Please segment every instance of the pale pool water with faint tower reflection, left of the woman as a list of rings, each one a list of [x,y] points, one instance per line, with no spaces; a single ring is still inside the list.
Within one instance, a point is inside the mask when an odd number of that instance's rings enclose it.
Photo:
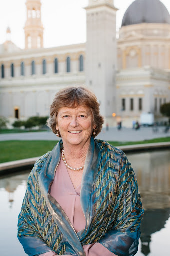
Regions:
[[[21,210],[29,172],[0,179],[0,255],[26,256],[17,239],[17,216]]]

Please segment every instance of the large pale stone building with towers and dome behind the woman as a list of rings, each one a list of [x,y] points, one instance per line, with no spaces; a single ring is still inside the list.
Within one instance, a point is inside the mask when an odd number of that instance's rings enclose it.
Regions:
[[[86,43],[43,48],[41,1],[26,0],[25,49],[0,45],[0,115],[13,121],[49,115],[55,93],[85,84],[112,125],[131,124],[142,112],[161,119],[170,101],[170,14],[159,0],[135,0],[116,39],[113,0],[89,0]],[[116,118],[112,113],[116,113]]]

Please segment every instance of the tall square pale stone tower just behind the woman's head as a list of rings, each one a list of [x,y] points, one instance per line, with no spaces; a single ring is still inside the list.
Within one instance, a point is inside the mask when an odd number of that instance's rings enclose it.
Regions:
[[[86,85],[97,96],[106,120],[115,112],[116,11],[113,0],[89,0]],[[107,120],[108,121],[108,120]]]

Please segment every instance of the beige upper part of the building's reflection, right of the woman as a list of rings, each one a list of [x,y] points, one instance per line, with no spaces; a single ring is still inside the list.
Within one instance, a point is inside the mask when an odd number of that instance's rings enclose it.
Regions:
[[[144,208],[170,207],[170,151],[129,154]]]

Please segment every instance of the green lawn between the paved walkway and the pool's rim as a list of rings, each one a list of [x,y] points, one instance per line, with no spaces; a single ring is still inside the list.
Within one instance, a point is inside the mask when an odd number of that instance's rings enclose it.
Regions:
[[[156,142],[170,142],[170,137],[137,141],[137,142],[109,141],[109,143],[114,146],[156,143]],[[57,143],[56,141],[45,141],[45,140],[43,141],[39,141],[39,140],[0,141],[0,163],[41,156],[46,152],[51,151],[56,143]]]

